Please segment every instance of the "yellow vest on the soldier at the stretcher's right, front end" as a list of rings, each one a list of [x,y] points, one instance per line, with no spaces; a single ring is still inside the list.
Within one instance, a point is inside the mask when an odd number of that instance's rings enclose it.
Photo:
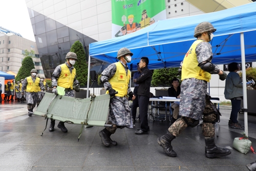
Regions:
[[[128,70],[127,76],[125,69],[121,62],[116,62],[116,73],[115,75],[109,80],[112,88],[118,92],[116,96],[124,97],[127,95],[128,84],[131,78],[131,72]],[[106,91],[109,93],[109,91]]]

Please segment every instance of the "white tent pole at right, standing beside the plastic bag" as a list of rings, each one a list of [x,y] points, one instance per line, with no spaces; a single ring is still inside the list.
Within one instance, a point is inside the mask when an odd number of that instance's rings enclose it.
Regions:
[[[242,78],[243,78],[243,96],[244,96],[244,132],[248,137],[248,119],[247,119],[247,92],[246,92],[246,71],[245,71],[245,49],[244,33],[240,33],[241,57],[242,57]]]

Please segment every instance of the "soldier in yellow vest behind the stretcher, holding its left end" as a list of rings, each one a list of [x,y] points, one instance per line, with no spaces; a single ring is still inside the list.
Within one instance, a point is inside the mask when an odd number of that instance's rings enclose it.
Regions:
[[[66,55],[66,62],[57,66],[52,74],[52,92],[58,94],[57,86],[65,88],[65,96],[74,97],[76,92],[80,91],[79,81],[76,79],[76,69],[74,64],[77,60],[76,53],[69,52]],[[51,120],[49,132],[54,131],[55,120]],[[57,127],[64,133],[68,130],[64,125],[64,122],[60,121]]]

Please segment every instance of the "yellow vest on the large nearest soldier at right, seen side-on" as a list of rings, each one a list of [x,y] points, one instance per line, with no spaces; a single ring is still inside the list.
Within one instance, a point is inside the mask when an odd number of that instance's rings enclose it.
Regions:
[[[198,39],[194,41],[194,43],[191,45],[191,47],[187,51],[183,59],[181,80],[186,78],[196,78],[196,79],[205,80],[207,82],[210,81],[211,74],[202,70],[200,67],[198,67],[199,63],[197,61],[196,48],[198,44],[200,44],[202,41],[204,40]]]

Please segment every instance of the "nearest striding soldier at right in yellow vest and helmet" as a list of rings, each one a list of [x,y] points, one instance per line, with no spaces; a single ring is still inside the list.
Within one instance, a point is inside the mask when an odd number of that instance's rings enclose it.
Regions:
[[[181,94],[180,94],[180,115],[168,129],[168,132],[157,139],[164,152],[170,157],[176,157],[171,142],[178,137],[187,127],[195,127],[202,119],[205,108],[205,97],[207,93],[207,82],[211,74],[219,74],[221,80],[225,80],[227,74],[211,63],[212,51],[209,41],[216,29],[208,22],[200,23],[195,28],[194,37],[197,40],[189,48],[181,62]],[[207,105],[208,108],[209,105]],[[227,148],[219,148],[214,141],[214,123],[216,113],[206,110],[208,115],[203,118],[203,135],[205,136],[205,156],[215,158],[227,156],[231,152]]]

